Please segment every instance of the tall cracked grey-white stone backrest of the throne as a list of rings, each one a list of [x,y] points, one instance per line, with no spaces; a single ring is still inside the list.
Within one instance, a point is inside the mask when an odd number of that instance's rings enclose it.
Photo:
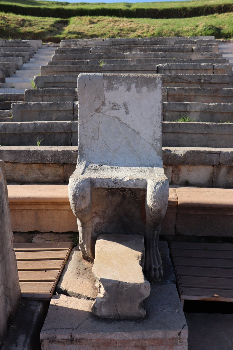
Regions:
[[[78,162],[162,167],[159,74],[78,76]]]

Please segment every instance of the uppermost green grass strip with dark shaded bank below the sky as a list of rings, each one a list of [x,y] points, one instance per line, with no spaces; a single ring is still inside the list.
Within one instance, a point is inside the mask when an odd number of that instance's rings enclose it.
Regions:
[[[233,0],[193,0],[145,3],[68,3],[0,0],[0,11],[53,18],[117,16],[127,18],[185,18],[233,12]]]

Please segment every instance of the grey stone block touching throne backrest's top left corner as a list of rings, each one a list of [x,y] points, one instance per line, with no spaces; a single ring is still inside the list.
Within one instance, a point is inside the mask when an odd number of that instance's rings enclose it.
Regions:
[[[77,75],[49,75],[36,76],[34,82],[37,87],[77,87]]]

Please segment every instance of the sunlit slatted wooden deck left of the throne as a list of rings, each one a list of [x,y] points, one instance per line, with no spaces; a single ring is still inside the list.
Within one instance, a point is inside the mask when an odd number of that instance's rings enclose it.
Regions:
[[[16,243],[13,247],[22,297],[50,300],[72,243]]]

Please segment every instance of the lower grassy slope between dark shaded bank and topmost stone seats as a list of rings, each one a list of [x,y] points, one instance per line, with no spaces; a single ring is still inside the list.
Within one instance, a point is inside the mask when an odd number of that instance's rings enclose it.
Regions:
[[[2,39],[62,39],[96,37],[156,37],[215,35],[233,38],[233,14],[214,14],[182,19],[83,16],[70,19],[0,13]]]

